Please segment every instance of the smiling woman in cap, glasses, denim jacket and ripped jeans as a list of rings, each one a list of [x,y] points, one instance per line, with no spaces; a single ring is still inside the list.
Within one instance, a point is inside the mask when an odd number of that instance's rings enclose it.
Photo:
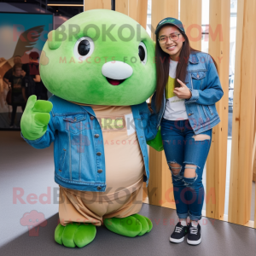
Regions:
[[[212,127],[220,121],[215,103],[224,92],[215,61],[189,46],[180,20],[161,20],[155,34],[157,87],[151,108],[158,116],[179,218],[170,241],[181,242],[188,234],[187,242],[196,245],[201,242],[202,173]]]

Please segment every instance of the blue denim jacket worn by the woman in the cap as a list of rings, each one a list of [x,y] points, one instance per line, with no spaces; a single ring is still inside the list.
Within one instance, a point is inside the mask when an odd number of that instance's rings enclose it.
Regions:
[[[186,79],[183,81],[192,93],[190,99],[185,100],[185,107],[195,134],[211,129],[220,122],[215,103],[224,95],[217,69],[212,58],[207,53],[194,52],[189,55]],[[152,96],[151,108],[156,113],[155,95]],[[162,96],[160,112],[157,113],[157,129],[166,108],[166,95]]]

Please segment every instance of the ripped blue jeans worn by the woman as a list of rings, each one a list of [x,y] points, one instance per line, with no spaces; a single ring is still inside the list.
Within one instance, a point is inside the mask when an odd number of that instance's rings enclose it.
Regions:
[[[160,126],[167,164],[172,172],[177,216],[200,220],[205,195],[202,173],[212,143],[212,129],[195,135],[189,119],[161,119]],[[189,172],[194,169],[195,177],[184,177],[186,168]]]

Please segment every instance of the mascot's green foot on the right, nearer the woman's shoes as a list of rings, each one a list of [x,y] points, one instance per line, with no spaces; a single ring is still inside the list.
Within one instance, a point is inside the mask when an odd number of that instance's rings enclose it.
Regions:
[[[153,228],[151,220],[139,214],[125,218],[105,218],[104,224],[108,230],[122,236],[143,236]]]

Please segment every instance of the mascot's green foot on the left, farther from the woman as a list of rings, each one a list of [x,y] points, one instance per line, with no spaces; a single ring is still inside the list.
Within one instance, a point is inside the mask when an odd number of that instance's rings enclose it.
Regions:
[[[96,226],[93,224],[58,224],[55,229],[55,241],[65,247],[85,247],[95,236]]]

